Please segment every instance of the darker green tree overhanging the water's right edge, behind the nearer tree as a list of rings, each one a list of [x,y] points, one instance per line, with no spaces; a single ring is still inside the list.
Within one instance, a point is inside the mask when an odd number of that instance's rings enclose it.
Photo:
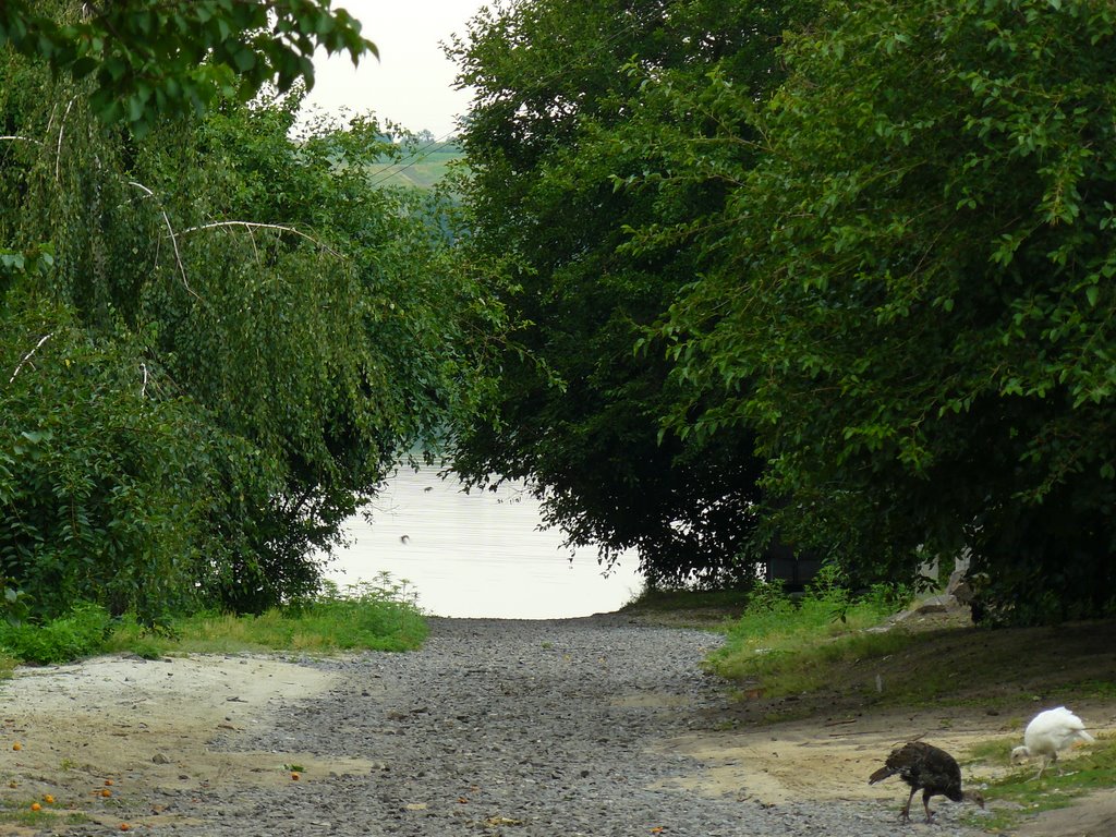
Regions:
[[[693,280],[699,250],[685,237],[631,249],[628,229],[700,219],[728,194],[718,177],[666,170],[656,146],[671,129],[713,126],[648,96],[647,80],[694,89],[720,71],[762,98],[781,30],[809,9],[537,0],[483,10],[451,49],[477,90],[460,136],[463,252],[511,277],[517,292],[502,301],[525,349],[507,353],[496,421],[459,437],[454,468],[473,484],[527,479],[569,543],[606,562],[636,548],[653,583],[750,577],[740,556],[762,462],[747,433],[664,433],[660,419],[683,395],[670,364],[636,350]],[[741,143],[712,153],[752,157]],[[637,184],[648,172],[663,174]]]

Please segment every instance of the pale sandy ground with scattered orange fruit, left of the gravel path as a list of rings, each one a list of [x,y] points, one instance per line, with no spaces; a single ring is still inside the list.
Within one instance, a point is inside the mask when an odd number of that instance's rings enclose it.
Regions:
[[[331,682],[316,668],[260,656],[113,656],[19,668],[0,683],[0,800],[26,808],[49,795],[54,808],[118,824],[116,799],[152,788],[289,782],[289,764],[319,776],[366,772],[356,761],[208,745],[275,721],[288,703]],[[145,824],[157,824],[158,814]],[[0,835],[28,833],[0,824]]]

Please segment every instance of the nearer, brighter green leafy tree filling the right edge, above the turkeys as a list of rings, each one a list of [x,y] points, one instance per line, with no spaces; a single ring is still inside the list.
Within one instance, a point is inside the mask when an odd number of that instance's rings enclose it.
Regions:
[[[998,619],[1110,612],[1116,10],[828,16],[662,329],[693,404],[731,394],[675,425],[759,432],[780,523],[862,578],[969,549]]]

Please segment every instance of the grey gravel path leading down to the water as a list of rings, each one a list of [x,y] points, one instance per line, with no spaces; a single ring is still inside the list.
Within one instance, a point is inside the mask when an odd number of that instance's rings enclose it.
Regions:
[[[618,615],[433,619],[420,652],[307,663],[339,671],[343,680],[287,706],[273,725],[223,744],[362,758],[374,763],[371,771],[250,792],[232,782],[201,793],[165,791],[154,801],[185,819],[155,830],[190,837],[979,834],[959,826],[959,806],[941,798],[937,825],[901,828],[898,782],[894,806],[763,806],[740,793],[706,797],[672,787],[702,766],[664,742],[708,728],[713,722],[699,710],[730,700],[723,683],[699,668],[718,642]]]

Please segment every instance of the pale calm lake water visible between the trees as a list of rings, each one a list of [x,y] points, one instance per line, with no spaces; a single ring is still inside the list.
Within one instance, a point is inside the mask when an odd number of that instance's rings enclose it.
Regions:
[[[373,503],[373,521],[353,518],[349,546],[326,578],[344,586],[386,571],[406,579],[419,606],[436,616],[543,619],[616,610],[643,587],[635,554],[605,577],[595,549],[561,548],[539,531],[538,502],[522,483],[464,493],[436,468],[410,468]]]

